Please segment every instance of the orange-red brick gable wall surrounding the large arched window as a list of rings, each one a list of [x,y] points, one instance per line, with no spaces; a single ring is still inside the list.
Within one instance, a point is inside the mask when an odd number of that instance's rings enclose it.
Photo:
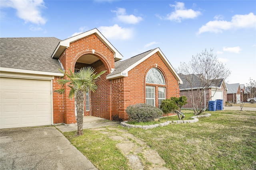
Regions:
[[[146,84],[146,74],[150,68],[156,67],[164,75],[165,85]],[[166,98],[171,96],[179,97],[178,81],[162,61],[160,56],[155,53],[144,62],[138,64],[128,72],[128,77],[112,80],[112,117],[116,120],[127,120],[128,115],[125,109],[134,104],[146,103],[145,89],[147,86],[155,86],[156,107],[158,106],[158,86],[166,88]],[[118,88],[120,86],[120,88]],[[123,104],[122,104],[123,102]],[[119,114],[118,114],[119,112]],[[119,117],[117,117],[117,115]],[[116,117],[114,117],[116,116]]]

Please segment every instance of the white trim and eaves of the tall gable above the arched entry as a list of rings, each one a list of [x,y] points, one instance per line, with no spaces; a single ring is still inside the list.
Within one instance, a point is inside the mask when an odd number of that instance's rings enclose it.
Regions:
[[[84,33],[75,35],[74,37],[70,37],[68,39],[64,39],[63,41],[60,41],[58,43],[58,46],[52,53],[52,58],[58,59],[62,52],[70,46],[70,43],[77,41],[78,39],[81,39],[83,37],[87,37],[89,35],[96,34],[103,43],[108,46],[108,48],[114,53],[115,61],[123,59],[123,56],[116,50],[116,48],[100,33],[100,31],[97,28],[91,29],[90,31],[86,31]]]

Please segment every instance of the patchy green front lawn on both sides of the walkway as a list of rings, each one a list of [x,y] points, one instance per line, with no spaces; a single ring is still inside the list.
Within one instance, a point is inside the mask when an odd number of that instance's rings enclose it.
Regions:
[[[185,110],[184,113],[191,111]],[[170,124],[154,129],[124,128],[156,150],[169,169],[256,169],[256,111],[206,111],[197,123]],[[188,118],[188,117],[187,117]],[[84,130],[64,133],[100,170],[129,169],[128,160],[109,138],[117,133]]]

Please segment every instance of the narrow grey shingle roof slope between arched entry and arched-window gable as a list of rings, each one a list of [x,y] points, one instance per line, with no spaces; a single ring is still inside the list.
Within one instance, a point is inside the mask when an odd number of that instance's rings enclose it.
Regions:
[[[138,62],[140,59],[143,59],[144,57],[146,57],[149,53],[151,53],[154,50],[155,49],[152,49],[150,51],[146,51],[146,52],[144,52],[142,54],[136,55],[136,56],[134,56],[134,57],[132,57],[130,59],[126,59],[124,61],[116,61],[115,62],[115,70],[114,70],[114,72],[108,74],[108,76],[123,72],[126,68],[128,68],[132,64]]]

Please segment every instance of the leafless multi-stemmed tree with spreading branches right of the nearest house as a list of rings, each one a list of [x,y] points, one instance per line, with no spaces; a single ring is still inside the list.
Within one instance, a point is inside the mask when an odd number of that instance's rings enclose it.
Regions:
[[[195,115],[203,113],[206,109],[203,107],[205,90],[216,87],[220,79],[226,79],[231,73],[225,64],[218,61],[217,56],[212,51],[213,49],[210,49],[210,51],[205,49],[196,56],[192,56],[188,63],[180,63],[177,69],[190,86],[187,90],[191,92],[190,102]],[[212,97],[214,94],[212,94]]]

